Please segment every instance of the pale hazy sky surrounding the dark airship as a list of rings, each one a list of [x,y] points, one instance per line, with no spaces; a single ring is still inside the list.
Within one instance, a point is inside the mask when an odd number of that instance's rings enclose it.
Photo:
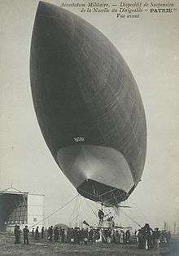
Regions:
[[[46,2],[60,6],[67,1]],[[29,54],[37,4],[37,0],[0,1],[0,190],[12,184],[20,191],[45,194],[48,215],[75,196],[76,190],[51,156],[33,109]],[[142,181],[124,203],[131,208],[120,210],[117,221],[134,225],[124,211],[141,224],[162,227],[166,220],[171,228],[174,221],[179,226],[178,13],[117,19],[112,13],[67,9],[111,40],[129,64],[142,95],[147,122],[146,165]],[[49,223],[72,222],[73,210],[81,214],[79,221],[87,218],[90,223],[93,218],[95,222],[91,208],[97,210],[99,205],[77,196],[49,218]]]

